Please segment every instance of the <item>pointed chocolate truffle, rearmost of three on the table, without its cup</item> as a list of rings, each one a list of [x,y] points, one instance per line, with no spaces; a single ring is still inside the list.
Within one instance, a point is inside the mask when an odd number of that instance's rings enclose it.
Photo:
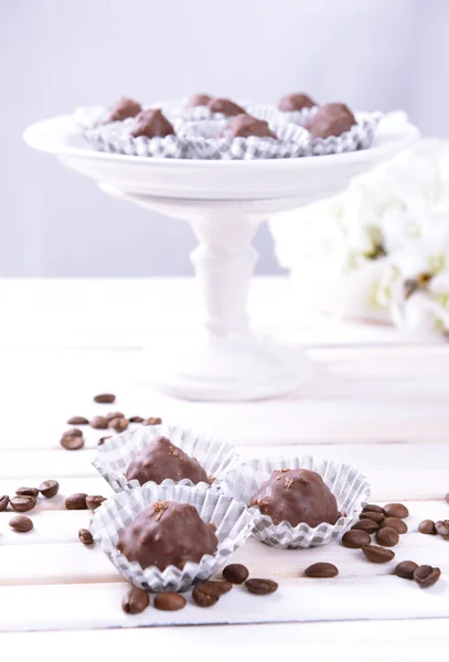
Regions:
[[[127,480],[136,479],[141,485],[152,480],[158,484],[165,478],[180,481],[189,478],[193,483],[209,482],[207,474],[195,458],[190,458],[167,437],[156,437],[131,460]]]

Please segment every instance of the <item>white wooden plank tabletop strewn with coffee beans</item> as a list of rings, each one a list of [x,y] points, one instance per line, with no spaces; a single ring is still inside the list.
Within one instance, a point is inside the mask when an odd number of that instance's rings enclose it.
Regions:
[[[47,478],[61,483],[56,499],[31,512],[35,527],[29,534],[11,531],[11,512],[0,513],[4,642],[35,653],[40,647],[76,647],[84,637],[94,647],[111,647],[117,659],[130,645],[151,642],[159,651],[175,641],[184,655],[215,647],[215,659],[250,644],[311,660],[339,659],[344,649],[345,660],[449,660],[449,543],[417,532],[423,519],[449,517],[449,348],[406,343],[388,327],[304,317],[285,279],[259,278],[250,296],[253,319],[308,345],[317,364],[313,381],[274,401],[192,403],[152,392],[141,352],[171,342],[179,316],[186,320],[182,332],[190,332],[197,307],[192,280],[3,280],[0,302],[0,493]],[[340,544],[276,551],[250,540],[235,560],[253,576],[277,579],[272,596],[234,588],[211,609],[189,604],[169,615],[153,608],[125,615],[122,578],[98,548],[77,540],[87,513],[64,510],[70,493],[109,493],[90,466],[104,433],[88,429],[79,451],[58,446],[71,415],[104,410],[92,401],[101,391],[117,393],[114,408],[129,415],[214,431],[244,458],[295,449],[354,465],[371,481],[373,501],[409,508],[409,533],[395,547],[395,560],[439,566],[441,580],[421,590],[392,575],[394,562],[373,565]],[[339,577],[304,578],[303,569],[317,560],[338,565]],[[199,622],[210,627],[135,629]]]

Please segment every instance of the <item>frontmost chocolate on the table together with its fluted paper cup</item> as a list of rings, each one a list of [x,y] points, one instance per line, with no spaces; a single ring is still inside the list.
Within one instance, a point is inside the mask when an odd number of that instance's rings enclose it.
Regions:
[[[204,483],[147,483],[105,501],[90,532],[126,579],[159,592],[188,590],[209,579],[244,544],[253,525],[254,515],[243,503]]]

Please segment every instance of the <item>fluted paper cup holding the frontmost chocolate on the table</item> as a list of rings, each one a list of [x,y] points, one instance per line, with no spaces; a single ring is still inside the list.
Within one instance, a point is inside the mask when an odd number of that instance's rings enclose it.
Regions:
[[[119,531],[154,501],[177,501],[194,505],[204,522],[213,522],[217,526],[216,553],[205,554],[200,563],[188,562],[182,570],[173,565],[164,570],[156,566],[142,569],[139,563],[129,562],[116,547]],[[216,573],[250,535],[253,523],[254,516],[245,504],[205,489],[204,483],[197,487],[147,483],[143,488],[120,492],[107,499],[95,511],[90,532],[120,575],[138,588],[183,591]]]

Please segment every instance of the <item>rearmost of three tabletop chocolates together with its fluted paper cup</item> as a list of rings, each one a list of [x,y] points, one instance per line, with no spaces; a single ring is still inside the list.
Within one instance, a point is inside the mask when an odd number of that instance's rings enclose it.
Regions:
[[[149,425],[107,439],[93,465],[120,492],[148,481],[214,487],[237,462],[234,447],[213,435]]]

